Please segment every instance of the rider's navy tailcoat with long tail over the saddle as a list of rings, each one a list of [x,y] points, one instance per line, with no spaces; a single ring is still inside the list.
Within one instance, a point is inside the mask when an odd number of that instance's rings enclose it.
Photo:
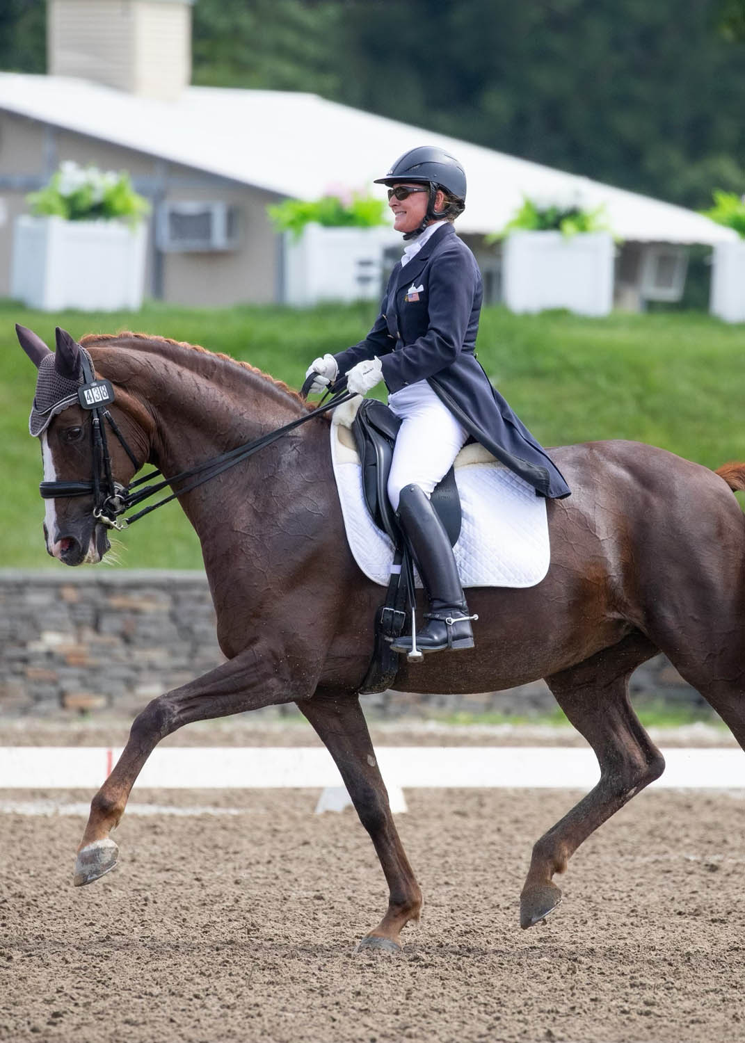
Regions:
[[[364,340],[335,355],[339,375],[375,356],[390,392],[426,380],[468,434],[540,495],[570,488],[474,355],[483,295],[474,254],[443,224],[388,280],[381,314]]]

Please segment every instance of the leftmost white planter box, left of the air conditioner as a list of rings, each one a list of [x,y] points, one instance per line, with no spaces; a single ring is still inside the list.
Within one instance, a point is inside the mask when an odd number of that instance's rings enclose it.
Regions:
[[[10,296],[46,312],[138,309],[145,282],[143,224],[16,219]]]

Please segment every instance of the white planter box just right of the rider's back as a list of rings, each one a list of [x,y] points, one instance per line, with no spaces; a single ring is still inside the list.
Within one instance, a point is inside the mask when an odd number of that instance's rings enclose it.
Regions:
[[[567,308],[607,315],[614,302],[615,244],[607,232],[512,232],[504,243],[504,302],[512,312]]]

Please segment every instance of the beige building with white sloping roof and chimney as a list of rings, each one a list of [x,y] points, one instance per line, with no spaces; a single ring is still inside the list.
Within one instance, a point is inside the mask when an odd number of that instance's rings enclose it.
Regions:
[[[687,244],[737,238],[680,207],[315,95],[189,87],[189,5],[181,0],[49,0],[49,13],[50,75],[0,73],[0,295],[8,292],[11,220],[65,160],[130,172],[153,204],[147,295],[174,302],[282,300],[282,237],[266,204],[340,187],[384,198],[374,178],[420,144],[446,148],[466,170],[456,227],[484,268],[490,299],[499,298],[499,251],[483,237],[524,196],[580,196],[605,208],[625,244],[617,297],[625,286],[630,305],[651,247],[674,257]],[[189,225],[207,204],[211,232],[190,249],[188,239],[176,241],[172,215]]]

